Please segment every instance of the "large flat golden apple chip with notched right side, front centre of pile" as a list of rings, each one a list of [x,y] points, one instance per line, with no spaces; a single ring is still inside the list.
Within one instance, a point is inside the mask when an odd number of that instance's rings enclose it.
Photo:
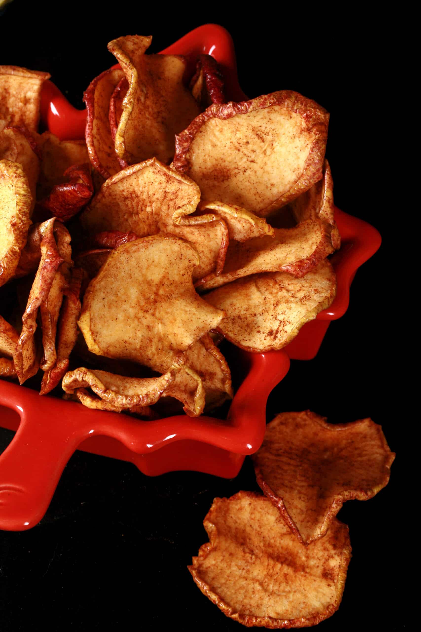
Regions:
[[[97,355],[133,360],[160,373],[222,320],[194,291],[198,253],[158,234],[125,243],[86,289],[79,327]]]

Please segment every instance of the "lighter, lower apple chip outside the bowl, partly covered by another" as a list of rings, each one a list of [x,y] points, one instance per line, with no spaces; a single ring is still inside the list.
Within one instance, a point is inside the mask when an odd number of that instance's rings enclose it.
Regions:
[[[189,571],[230,619],[263,628],[316,625],[338,609],[351,558],[348,527],[304,547],[264,496],[215,498],[203,521],[210,542]]]

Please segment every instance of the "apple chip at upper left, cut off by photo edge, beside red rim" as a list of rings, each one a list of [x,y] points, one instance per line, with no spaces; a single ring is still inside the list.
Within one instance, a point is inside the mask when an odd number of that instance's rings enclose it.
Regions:
[[[0,119],[6,125],[23,125],[37,131],[41,88],[50,76],[18,66],[0,66]]]

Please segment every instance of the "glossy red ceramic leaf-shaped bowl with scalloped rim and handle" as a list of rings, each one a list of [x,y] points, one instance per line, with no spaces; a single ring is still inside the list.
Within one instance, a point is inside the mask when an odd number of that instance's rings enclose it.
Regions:
[[[228,99],[242,100],[232,39],[208,24],[162,51],[192,59],[203,52],[222,66]],[[42,92],[42,122],[61,139],[83,138],[86,112],[72,107],[54,83]],[[266,401],[287,374],[290,358],[311,360],[331,320],[347,310],[357,268],[379,248],[381,238],[366,222],[336,209],[342,246],[332,262],[338,277],[336,299],[302,327],[282,351],[246,353],[235,349],[232,373],[246,368],[226,420],[177,415],[141,422],[126,415],[93,411],[27,387],[0,382],[0,425],[17,432],[0,457],[0,528],[25,530],[44,516],[64,466],[76,449],[131,461],[147,475],[194,470],[225,478],[237,475],[246,454],[261,446]]]

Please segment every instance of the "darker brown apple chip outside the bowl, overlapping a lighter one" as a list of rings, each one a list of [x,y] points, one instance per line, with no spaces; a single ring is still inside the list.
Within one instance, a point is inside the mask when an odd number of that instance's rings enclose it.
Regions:
[[[366,501],[387,485],[394,456],[371,419],[326,423],[305,410],[268,423],[252,460],[264,494],[309,544],[328,533],[343,502]]]

